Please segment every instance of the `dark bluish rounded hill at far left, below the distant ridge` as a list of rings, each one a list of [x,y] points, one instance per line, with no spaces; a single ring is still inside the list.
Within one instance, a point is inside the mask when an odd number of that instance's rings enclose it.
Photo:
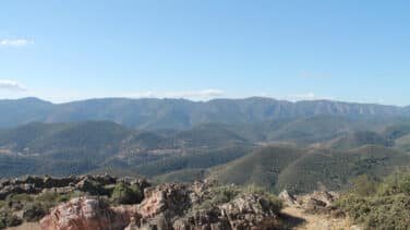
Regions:
[[[0,135],[0,147],[23,156],[98,160],[117,154],[130,131],[113,122],[29,123]],[[98,157],[99,155],[99,157]]]

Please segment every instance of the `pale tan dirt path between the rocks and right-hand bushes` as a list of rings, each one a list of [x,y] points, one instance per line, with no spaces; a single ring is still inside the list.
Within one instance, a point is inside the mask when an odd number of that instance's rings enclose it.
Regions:
[[[287,207],[282,214],[288,216],[293,225],[289,229],[293,230],[360,230],[355,226],[351,226],[348,219],[335,219],[324,215],[310,215],[303,213],[298,207]]]

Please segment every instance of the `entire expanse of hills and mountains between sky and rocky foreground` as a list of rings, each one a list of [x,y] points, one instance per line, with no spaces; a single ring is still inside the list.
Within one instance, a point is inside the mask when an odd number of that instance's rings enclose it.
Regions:
[[[1,100],[0,177],[109,172],[305,193],[410,165],[406,107],[268,98]]]

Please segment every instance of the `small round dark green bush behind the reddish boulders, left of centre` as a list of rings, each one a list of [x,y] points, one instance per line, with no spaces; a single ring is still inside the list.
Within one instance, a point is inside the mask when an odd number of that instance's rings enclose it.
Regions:
[[[112,191],[111,199],[116,204],[137,204],[143,201],[143,192],[136,184],[119,183]]]

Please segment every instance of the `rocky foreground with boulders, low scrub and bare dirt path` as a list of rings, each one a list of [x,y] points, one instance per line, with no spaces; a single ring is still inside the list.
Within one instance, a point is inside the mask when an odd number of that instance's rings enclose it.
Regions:
[[[150,185],[110,175],[26,177],[0,183],[0,226],[44,230],[350,229],[337,194],[279,198],[215,181]],[[287,206],[282,210],[284,204]],[[33,222],[38,222],[34,225]]]

